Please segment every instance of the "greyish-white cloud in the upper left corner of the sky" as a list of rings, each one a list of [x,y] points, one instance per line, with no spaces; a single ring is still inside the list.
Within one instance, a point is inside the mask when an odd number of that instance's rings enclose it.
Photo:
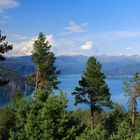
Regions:
[[[0,0],[0,12],[19,6],[16,0]]]

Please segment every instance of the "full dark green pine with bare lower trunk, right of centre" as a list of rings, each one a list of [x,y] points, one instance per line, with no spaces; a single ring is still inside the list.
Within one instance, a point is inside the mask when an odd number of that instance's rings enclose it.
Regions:
[[[86,71],[79,81],[80,87],[76,87],[72,93],[75,95],[75,104],[85,103],[89,105],[91,111],[91,129],[96,127],[94,112],[101,110],[102,106],[109,105],[110,103],[110,92],[101,68],[101,64],[97,62],[96,58],[90,57],[87,62]]]

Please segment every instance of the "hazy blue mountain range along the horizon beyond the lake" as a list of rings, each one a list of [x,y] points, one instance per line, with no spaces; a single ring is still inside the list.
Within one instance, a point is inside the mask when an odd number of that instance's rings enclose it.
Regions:
[[[102,71],[106,76],[129,76],[140,72],[140,56],[96,56],[102,64]],[[81,74],[86,67],[88,56],[57,56],[56,67],[61,74]],[[22,75],[28,75],[35,71],[35,65],[30,56],[9,57],[0,62],[2,68]]]

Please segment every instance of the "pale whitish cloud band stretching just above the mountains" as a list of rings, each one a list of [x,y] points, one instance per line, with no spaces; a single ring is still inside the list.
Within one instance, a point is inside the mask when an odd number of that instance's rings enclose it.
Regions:
[[[140,54],[139,31],[110,31],[72,36],[47,35],[46,37],[56,55]],[[37,37],[27,39],[25,36],[13,34],[9,38],[13,42],[20,40],[21,43],[13,43],[14,49],[8,55],[22,56],[31,54],[33,42]]]

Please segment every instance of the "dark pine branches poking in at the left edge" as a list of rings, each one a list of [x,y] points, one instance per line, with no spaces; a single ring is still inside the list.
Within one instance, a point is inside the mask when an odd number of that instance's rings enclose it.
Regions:
[[[12,50],[12,45],[9,45],[8,42],[5,41],[6,36],[2,36],[0,31],[0,61],[4,61],[5,57],[3,56],[4,53]],[[7,79],[4,79],[2,74],[0,74],[0,86],[3,86],[8,83]]]

